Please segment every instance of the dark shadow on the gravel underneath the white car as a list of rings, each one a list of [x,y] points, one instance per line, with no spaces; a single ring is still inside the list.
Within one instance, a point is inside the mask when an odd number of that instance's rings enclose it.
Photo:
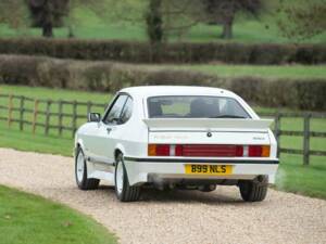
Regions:
[[[108,191],[114,195],[114,187],[100,185],[99,190]],[[115,196],[114,196],[115,197]],[[246,205],[240,193],[228,191],[221,193],[218,188],[213,192],[200,192],[198,190],[167,190],[160,191],[153,188],[141,190],[140,203],[202,203],[202,204],[241,204]]]

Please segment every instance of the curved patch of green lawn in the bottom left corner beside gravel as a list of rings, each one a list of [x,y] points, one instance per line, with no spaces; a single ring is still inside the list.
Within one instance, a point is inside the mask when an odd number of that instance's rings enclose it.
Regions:
[[[91,218],[42,197],[0,185],[0,243],[116,243]]]

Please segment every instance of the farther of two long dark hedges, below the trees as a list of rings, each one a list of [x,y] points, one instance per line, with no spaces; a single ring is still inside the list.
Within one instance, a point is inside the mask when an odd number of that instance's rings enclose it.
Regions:
[[[147,42],[79,39],[0,39],[0,53],[127,63],[284,64],[326,63],[326,44]]]

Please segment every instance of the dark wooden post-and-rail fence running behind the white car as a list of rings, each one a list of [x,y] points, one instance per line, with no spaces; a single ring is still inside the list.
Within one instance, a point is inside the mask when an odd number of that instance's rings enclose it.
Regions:
[[[32,126],[32,132],[35,133],[36,129],[41,127],[45,134],[49,134],[49,131],[57,130],[59,136],[62,136],[63,131],[70,131],[74,136],[78,128],[77,119],[86,121],[87,114],[93,108],[103,111],[106,104],[78,101],[64,101],[64,100],[45,100],[45,99],[32,99],[23,95],[0,94],[0,101],[7,100],[5,105],[0,102],[0,121],[7,121],[8,127],[11,128],[13,123],[18,124],[20,130],[26,130],[25,125]],[[29,107],[26,106],[26,102],[29,102]],[[32,105],[30,105],[32,103]],[[40,110],[40,106],[45,110]],[[57,112],[51,112],[51,108],[57,105]],[[72,113],[65,112],[65,107],[71,106]],[[78,107],[85,107],[84,113],[78,113]],[[16,116],[13,113],[16,112]],[[28,116],[29,115],[29,116]],[[42,115],[43,119],[39,119]],[[326,113],[276,113],[276,114],[260,114],[262,117],[274,118],[274,133],[278,141],[278,156],[280,153],[303,155],[303,164],[309,165],[310,156],[326,156],[326,151],[315,151],[310,149],[311,138],[326,138],[326,132],[311,131],[311,119],[326,119]],[[29,119],[26,119],[29,117]],[[55,117],[58,124],[53,125],[50,119]],[[70,125],[64,123],[64,118],[71,118]],[[301,131],[298,130],[283,130],[281,120],[284,118],[303,118],[303,127]],[[42,121],[40,121],[42,120]],[[326,120],[325,120],[326,123]],[[290,137],[303,137],[302,150],[281,147],[280,136]],[[325,144],[326,147],[326,144]]]

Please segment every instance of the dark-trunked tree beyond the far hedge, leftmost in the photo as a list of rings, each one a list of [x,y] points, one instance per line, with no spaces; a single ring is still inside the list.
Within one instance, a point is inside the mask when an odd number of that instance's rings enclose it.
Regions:
[[[53,37],[53,27],[62,25],[68,14],[70,0],[27,0],[34,26],[42,28],[43,37]]]

